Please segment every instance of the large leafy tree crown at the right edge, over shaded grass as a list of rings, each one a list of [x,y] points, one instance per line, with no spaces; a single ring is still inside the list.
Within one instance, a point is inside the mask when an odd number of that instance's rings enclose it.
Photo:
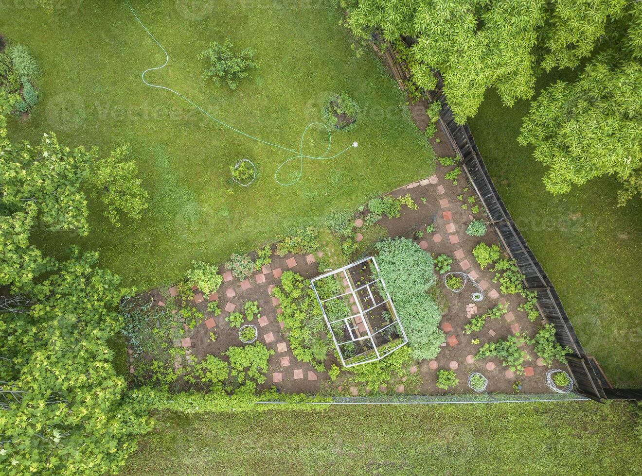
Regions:
[[[542,92],[518,140],[535,146],[535,160],[548,166],[544,184],[551,193],[615,175],[623,184],[618,204],[625,205],[642,194],[642,3],[631,4],[614,30],[614,47],[576,81]]]

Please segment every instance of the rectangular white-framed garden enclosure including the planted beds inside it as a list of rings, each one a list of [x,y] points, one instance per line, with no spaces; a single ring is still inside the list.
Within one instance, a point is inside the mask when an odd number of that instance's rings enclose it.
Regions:
[[[378,361],[408,343],[374,257],[317,276],[311,285],[343,367]]]

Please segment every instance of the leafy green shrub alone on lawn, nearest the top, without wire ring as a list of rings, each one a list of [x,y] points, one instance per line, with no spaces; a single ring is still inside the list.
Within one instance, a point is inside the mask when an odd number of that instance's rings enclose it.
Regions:
[[[254,50],[245,48],[241,53],[232,51],[232,42],[229,38],[221,46],[217,42],[211,42],[209,47],[198,55],[198,59],[206,59],[209,65],[203,70],[204,78],[211,78],[214,84],[220,85],[225,81],[230,89],[236,89],[239,81],[250,76],[250,70],[257,69],[254,58]]]

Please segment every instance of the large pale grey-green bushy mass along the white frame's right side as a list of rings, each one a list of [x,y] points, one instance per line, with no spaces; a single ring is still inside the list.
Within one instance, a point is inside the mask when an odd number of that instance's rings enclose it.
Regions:
[[[435,284],[433,260],[414,242],[400,237],[376,244],[377,264],[386,283],[415,360],[434,359],[444,333],[441,312],[428,294]]]

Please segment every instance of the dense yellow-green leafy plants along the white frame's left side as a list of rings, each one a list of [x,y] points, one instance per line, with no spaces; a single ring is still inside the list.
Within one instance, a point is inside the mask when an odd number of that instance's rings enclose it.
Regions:
[[[320,296],[329,298],[337,290],[338,283],[326,279],[315,282],[315,286]],[[309,362],[317,371],[325,371],[323,362],[330,349],[329,337],[309,282],[297,273],[284,271],[281,287],[275,287],[272,294],[281,302],[283,312],[277,319],[288,330],[288,341],[294,357],[301,362]],[[327,311],[333,312],[333,309],[328,307]]]

